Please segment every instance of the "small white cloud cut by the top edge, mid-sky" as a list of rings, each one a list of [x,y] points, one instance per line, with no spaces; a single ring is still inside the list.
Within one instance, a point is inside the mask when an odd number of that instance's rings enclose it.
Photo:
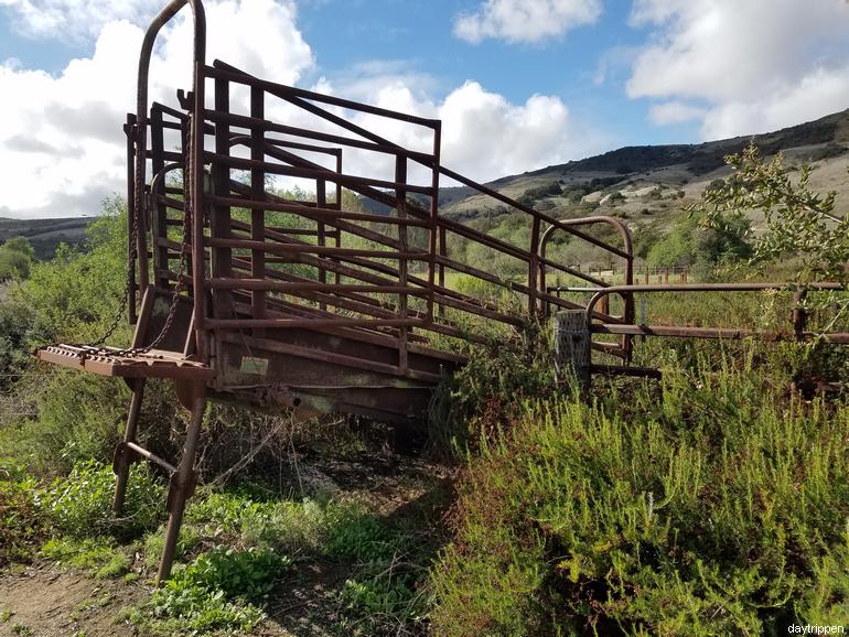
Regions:
[[[487,37],[540,42],[594,23],[601,11],[601,0],[486,0],[455,18],[454,35],[475,44]]]

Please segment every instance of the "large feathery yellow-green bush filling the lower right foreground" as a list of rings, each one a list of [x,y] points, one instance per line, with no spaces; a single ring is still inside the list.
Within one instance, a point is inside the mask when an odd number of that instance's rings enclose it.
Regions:
[[[849,617],[849,407],[748,370],[528,406],[460,485],[439,635],[786,634]]]

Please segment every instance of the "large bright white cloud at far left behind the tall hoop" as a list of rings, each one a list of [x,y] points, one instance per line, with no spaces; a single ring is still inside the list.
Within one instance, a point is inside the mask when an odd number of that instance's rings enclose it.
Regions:
[[[9,0],[0,0],[9,1]],[[109,4],[109,3],[101,3]],[[290,2],[207,2],[208,61],[223,57],[260,76],[293,84],[313,64]],[[191,19],[184,9],[160,34],[151,99],[173,104],[190,87]],[[126,190],[121,125],[135,111],[142,30],[107,23],[90,57],[57,75],[0,65],[0,216],[96,214],[100,201]],[[272,43],[269,46],[268,43]]]

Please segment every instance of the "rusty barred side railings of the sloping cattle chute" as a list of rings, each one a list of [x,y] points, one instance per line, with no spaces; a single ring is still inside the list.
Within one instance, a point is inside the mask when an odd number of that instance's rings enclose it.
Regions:
[[[427,333],[482,342],[493,325],[518,326],[548,307],[582,307],[547,291],[549,272],[606,285],[548,257],[555,231],[623,259],[631,282],[631,237],[617,219],[558,219],[447,169],[440,162],[439,120],[273,84],[218,61],[205,65],[200,2],[192,3],[192,91],[179,94],[181,108],[153,104],[148,111],[152,42],[184,3],[172,2],[160,14],[142,50],[138,112],[128,118],[127,127],[135,175],[130,213],[139,230],[130,259],[135,251],[133,277],[142,292],[151,284],[163,290],[178,281],[185,285],[194,303],[201,359],[208,357],[209,337],[216,333],[345,328],[390,339],[398,349],[397,369],[405,374],[410,344],[424,344]],[[234,98],[237,91],[249,96],[247,102]],[[278,121],[275,114],[290,117]],[[303,120],[311,126],[292,123]],[[427,148],[402,145],[374,132],[381,128],[402,128],[407,139],[426,140]],[[169,136],[179,137],[175,150],[166,142]],[[380,174],[345,172],[343,158],[348,166],[379,166],[381,171],[374,172]],[[148,165],[153,175],[150,185],[144,179]],[[179,170],[182,181],[166,183]],[[238,175],[246,179],[235,179]],[[280,196],[268,187],[269,179],[307,183],[314,198]],[[520,214],[528,242],[496,238],[441,214],[441,180],[472,188],[487,199],[490,209],[495,205]],[[370,209],[343,205],[345,191]],[[146,193],[152,205],[144,205]],[[191,236],[183,240],[191,257],[190,271],[181,274],[176,228],[185,220],[186,197],[193,216]],[[622,246],[584,231],[583,226],[597,224],[615,227]],[[456,246],[462,248],[459,252]],[[499,272],[492,260],[509,267]],[[456,284],[459,278],[466,284]],[[488,293],[476,292],[480,288]],[[516,303],[516,298],[524,302]],[[625,307],[622,317],[595,315],[605,322],[628,322],[633,303],[627,296]],[[626,356],[628,339],[623,336],[614,353]]]

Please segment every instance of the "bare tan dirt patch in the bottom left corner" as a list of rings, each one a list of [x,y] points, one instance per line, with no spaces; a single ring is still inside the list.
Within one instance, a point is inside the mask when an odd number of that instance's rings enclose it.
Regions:
[[[132,637],[119,611],[140,598],[143,586],[94,580],[49,565],[0,576],[0,636]],[[7,617],[7,614],[11,616]]]

